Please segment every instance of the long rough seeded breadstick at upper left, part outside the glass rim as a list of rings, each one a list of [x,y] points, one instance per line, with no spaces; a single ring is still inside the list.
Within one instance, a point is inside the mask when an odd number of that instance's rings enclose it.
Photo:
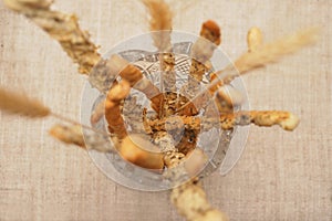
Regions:
[[[96,46],[86,31],[82,31],[74,14],[50,9],[51,0],[4,0],[4,4],[24,14],[55,39],[66,54],[79,64],[79,72],[89,74],[101,60]]]

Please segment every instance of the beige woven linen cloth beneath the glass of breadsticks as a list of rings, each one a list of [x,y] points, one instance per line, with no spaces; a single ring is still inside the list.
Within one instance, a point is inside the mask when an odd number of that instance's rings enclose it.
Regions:
[[[246,33],[260,27],[266,40],[320,25],[319,43],[269,65],[243,81],[255,109],[288,109],[301,117],[293,133],[251,127],[246,151],[226,177],[205,180],[212,204],[231,220],[332,220],[332,2],[172,1],[177,30],[198,33],[216,20],[222,49],[235,59]],[[106,52],[147,31],[144,9],[134,0],[58,0]],[[59,44],[0,4],[0,83],[40,97],[55,112],[79,119],[84,76]],[[117,186],[85,151],[48,136],[56,120],[0,114],[0,220],[181,220],[168,192],[139,192]]]

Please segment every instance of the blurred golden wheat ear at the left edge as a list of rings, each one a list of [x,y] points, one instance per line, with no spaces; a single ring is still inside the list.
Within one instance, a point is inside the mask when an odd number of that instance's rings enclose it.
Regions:
[[[49,107],[24,94],[0,88],[0,109],[9,114],[28,117],[45,117],[51,114]]]

